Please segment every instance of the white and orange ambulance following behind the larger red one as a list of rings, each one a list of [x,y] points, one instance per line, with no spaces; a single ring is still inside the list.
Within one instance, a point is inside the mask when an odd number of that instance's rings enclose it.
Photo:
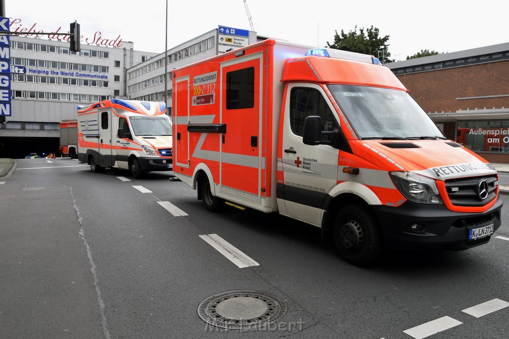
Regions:
[[[78,160],[92,172],[106,167],[144,172],[171,171],[172,121],[166,104],[110,99],[78,106]]]

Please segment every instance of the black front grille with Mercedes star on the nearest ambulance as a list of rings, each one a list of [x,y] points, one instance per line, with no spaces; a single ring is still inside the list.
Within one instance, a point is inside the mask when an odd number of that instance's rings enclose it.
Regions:
[[[479,196],[479,184],[483,180],[488,184],[488,195],[484,199]],[[445,180],[447,195],[455,206],[484,206],[495,198],[497,186],[496,175]]]

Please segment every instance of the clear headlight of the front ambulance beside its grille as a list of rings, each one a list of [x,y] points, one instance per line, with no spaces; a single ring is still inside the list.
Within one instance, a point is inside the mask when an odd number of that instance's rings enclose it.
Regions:
[[[412,172],[390,172],[400,193],[419,204],[443,204],[435,180]]]

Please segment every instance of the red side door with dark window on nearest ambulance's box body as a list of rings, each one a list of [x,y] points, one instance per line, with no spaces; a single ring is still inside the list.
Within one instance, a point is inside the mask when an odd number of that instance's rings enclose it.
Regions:
[[[261,204],[262,61],[254,53],[221,64],[220,192]]]

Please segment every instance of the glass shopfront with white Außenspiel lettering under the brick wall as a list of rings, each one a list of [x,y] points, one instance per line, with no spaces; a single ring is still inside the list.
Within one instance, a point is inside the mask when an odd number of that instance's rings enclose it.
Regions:
[[[458,121],[456,141],[473,151],[509,154],[509,120]]]

